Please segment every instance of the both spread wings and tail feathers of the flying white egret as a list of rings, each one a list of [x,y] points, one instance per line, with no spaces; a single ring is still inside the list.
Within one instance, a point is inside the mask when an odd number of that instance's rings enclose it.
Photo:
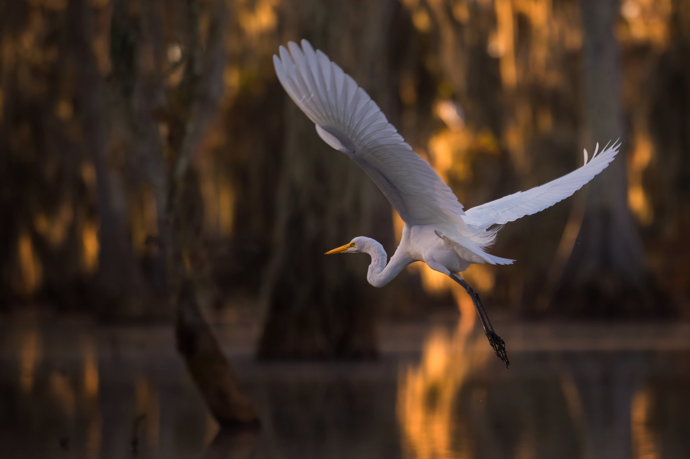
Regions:
[[[406,226],[433,225],[446,236],[444,241],[469,249],[471,254],[464,258],[472,263],[512,263],[484,251],[495,238],[489,227],[562,201],[607,167],[618,152],[617,143],[560,179],[464,211],[451,188],[412,151],[351,76],[306,40],[302,48],[294,42],[288,48],[289,52],[281,46],[280,57],[273,56],[275,72],[293,101],[315,123],[319,136],[364,169]]]

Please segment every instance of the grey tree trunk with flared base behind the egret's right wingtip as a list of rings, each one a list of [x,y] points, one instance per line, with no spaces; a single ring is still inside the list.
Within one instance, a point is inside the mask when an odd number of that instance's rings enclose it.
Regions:
[[[617,0],[581,0],[583,143],[625,139]],[[600,145],[603,147],[604,145]],[[586,213],[555,305],[588,316],[649,314],[653,298],[642,238],[628,207],[625,150],[589,185]]]

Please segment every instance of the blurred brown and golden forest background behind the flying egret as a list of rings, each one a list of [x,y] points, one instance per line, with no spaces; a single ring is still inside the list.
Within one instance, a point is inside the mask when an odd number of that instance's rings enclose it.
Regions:
[[[368,257],[322,255],[358,235],[392,254],[402,222],[279,85],[271,56],[306,38],[466,208],[620,136],[602,181],[506,225],[514,265],[471,267],[494,314],[687,318],[689,31],[683,0],[3,1],[0,309],[248,305],[260,356],[313,357],[453,305],[421,263],[374,289]]]

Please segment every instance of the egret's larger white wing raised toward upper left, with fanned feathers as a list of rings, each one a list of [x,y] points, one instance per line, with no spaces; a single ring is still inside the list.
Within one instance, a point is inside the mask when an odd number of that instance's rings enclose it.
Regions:
[[[319,136],[366,171],[408,225],[464,227],[462,204],[371,98],[330,59],[302,40],[280,47],[273,65],[280,83],[316,124]]]

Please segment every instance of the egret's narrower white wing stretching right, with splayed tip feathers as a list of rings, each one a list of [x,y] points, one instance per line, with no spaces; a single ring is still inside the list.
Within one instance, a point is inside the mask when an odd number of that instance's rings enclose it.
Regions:
[[[502,225],[551,207],[580,190],[596,174],[602,172],[613,161],[615,154],[618,153],[618,148],[620,148],[620,143],[616,142],[605,148],[600,154],[596,154],[595,151],[595,155],[589,163],[560,177],[560,179],[534,187],[526,192],[509,194],[490,203],[472,207],[466,211],[466,215],[463,217],[464,221],[471,227],[486,230],[491,225]]]

